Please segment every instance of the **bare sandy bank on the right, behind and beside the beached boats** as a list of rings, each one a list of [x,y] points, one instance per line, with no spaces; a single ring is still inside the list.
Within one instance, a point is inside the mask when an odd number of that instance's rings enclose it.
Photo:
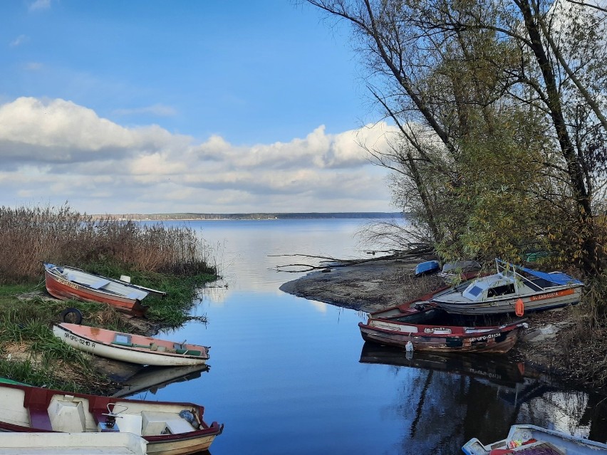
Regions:
[[[308,273],[284,283],[280,289],[294,296],[369,313],[413,300],[445,285],[437,276],[415,277],[417,263],[386,260],[334,267]],[[568,368],[564,360],[564,333],[574,324],[574,308],[530,313],[525,317],[529,328],[509,357],[552,375],[576,379],[579,376],[576,367]]]

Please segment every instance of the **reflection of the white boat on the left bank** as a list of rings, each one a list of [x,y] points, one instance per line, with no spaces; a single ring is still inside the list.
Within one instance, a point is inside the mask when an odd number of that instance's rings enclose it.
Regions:
[[[173,382],[183,382],[200,377],[208,371],[208,365],[190,365],[187,367],[142,367],[135,375],[123,382],[123,387],[113,397],[128,397],[135,393],[150,391],[155,393]]]

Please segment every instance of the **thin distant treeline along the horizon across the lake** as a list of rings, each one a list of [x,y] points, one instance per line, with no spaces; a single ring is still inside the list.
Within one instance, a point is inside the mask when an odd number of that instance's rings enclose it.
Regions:
[[[138,219],[162,221],[168,219],[329,219],[329,218],[401,218],[400,212],[388,211],[344,211],[344,212],[302,212],[302,213],[251,213],[251,214],[195,214],[195,213],[175,213],[175,214],[113,214],[113,215],[93,215],[93,217],[103,218],[112,216],[116,219]]]

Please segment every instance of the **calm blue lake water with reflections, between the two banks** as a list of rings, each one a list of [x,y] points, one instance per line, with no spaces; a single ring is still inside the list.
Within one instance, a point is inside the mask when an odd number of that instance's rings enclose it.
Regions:
[[[162,335],[211,346],[210,369],[132,396],[204,405],[205,420],[225,424],[213,455],[453,455],[472,437],[504,438],[516,423],[607,441],[603,395],[505,357],[408,358],[365,345],[363,313],[279,291],[298,275],[276,266],[301,258],[275,255],[363,256],[354,237],[363,223],[184,222],[217,249],[227,287],[207,289],[195,306],[206,325]]]

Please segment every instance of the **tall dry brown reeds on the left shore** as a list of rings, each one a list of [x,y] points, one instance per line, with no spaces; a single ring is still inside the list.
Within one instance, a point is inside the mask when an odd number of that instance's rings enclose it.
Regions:
[[[130,271],[217,273],[212,249],[187,227],[95,219],[63,206],[0,208],[0,284],[36,281],[41,262]]]

